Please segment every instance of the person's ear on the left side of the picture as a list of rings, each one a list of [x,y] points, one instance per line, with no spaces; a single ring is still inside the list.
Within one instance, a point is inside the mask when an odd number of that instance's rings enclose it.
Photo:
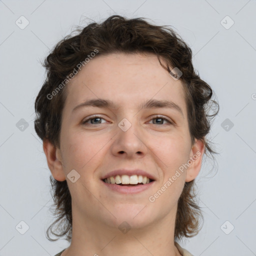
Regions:
[[[43,139],[42,144],[51,175],[58,181],[64,181],[66,177],[63,170],[60,149],[55,147],[48,139]]]

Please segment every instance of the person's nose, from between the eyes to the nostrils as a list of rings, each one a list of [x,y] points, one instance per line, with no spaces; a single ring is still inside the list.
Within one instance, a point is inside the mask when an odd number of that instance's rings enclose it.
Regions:
[[[142,130],[135,121],[129,122],[131,125],[127,122],[126,119],[119,123],[116,135],[112,138],[111,152],[113,155],[122,155],[125,158],[143,157],[148,150],[144,141],[145,136],[143,136]],[[127,125],[129,126],[127,130],[122,128],[125,125],[126,128]]]

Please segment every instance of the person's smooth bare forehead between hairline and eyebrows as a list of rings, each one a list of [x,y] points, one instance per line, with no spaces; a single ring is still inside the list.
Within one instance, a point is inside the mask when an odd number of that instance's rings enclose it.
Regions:
[[[161,62],[164,61],[161,59]],[[149,99],[171,100],[185,114],[183,84],[174,80],[156,55],[111,53],[92,58],[66,85],[68,109],[91,98],[114,101],[120,107],[141,106]]]

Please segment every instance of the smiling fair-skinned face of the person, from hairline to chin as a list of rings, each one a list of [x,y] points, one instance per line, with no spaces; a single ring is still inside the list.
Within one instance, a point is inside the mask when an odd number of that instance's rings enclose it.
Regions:
[[[199,172],[196,152],[203,151],[198,141],[191,145],[180,79],[174,80],[153,54],[114,53],[90,60],[66,86],[59,164],[51,172],[66,179],[73,216],[108,227],[174,218],[184,182]],[[82,105],[89,100],[97,101]],[[123,183],[128,178],[139,184],[112,184],[119,182],[118,174]],[[149,183],[143,184],[144,176]]]

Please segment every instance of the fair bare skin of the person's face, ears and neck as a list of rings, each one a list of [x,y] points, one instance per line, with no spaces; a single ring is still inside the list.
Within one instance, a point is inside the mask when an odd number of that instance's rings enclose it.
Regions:
[[[174,80],[153,54],[112,53],[94,57],[66,86],[60,148],[43,141],[52,176],[66,179],[72,198],[72,240],[61,256],[181,255],[174,245],[177,201],[184,182],[198,175],[204,152],[201,140],[190,141],[181,80]],[[118,108],[90,106],[72,112],[92,98],[112,100]],[[151,98],[172,100],[183,115],[173,108],[138,111]],[[94,114],[103,119],[82,124]],[[172,124],[157,122],[156,114]],[[127,131],[117,125],[123,118],[131,123]],[[196,152],[200,156],[150,202],[148,197]],[[118,168],[140,168],[156,180],[140,193],[120,194],[100,181]],[[67,178],[72,169],[80,175],[74,183]],[[123,221],[131,227],[127,233],[118,229]]]

